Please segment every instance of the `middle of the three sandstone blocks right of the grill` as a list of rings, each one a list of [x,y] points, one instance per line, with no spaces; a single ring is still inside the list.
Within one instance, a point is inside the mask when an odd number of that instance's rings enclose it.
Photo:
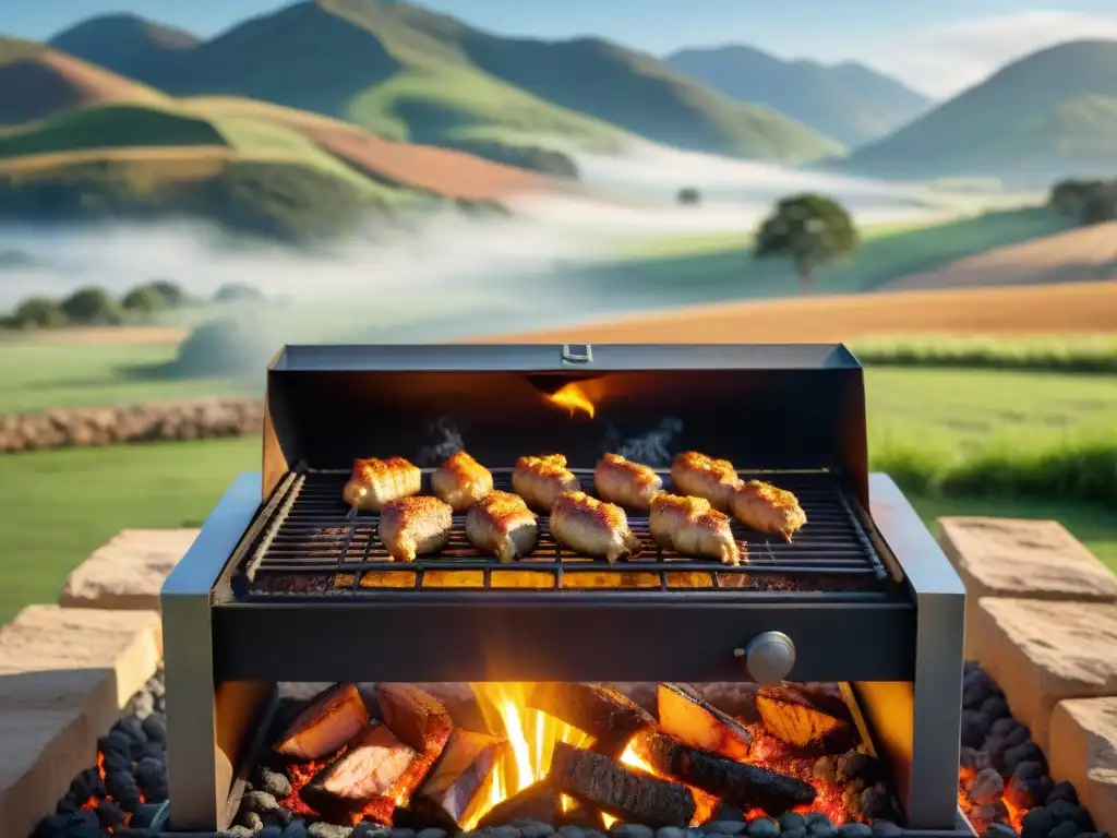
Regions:
[[[986,597],[975,626],[975,655],[1043,750],[1058,702],[1117,695],[1115,604]]]

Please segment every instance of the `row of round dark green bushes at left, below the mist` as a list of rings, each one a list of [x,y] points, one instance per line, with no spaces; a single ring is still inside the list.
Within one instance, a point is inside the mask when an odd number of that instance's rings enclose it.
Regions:
[[[221,286],[209,302],[231,303],[262,298],[264,295],[252,286],[238,283]],[[9,328],[118,326],[156,312],[185,308],[206,302],[189,295],[182,286],[169,279],[142,283],[120,298],[104,288],[86,286],[58,299],[42,294],[27,297],[2,320],[2,324]]]

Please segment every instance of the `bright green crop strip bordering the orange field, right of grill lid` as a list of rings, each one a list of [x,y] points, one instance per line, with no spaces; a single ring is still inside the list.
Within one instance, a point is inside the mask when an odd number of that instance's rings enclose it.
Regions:
[[[856,341],[850,349],[875,366],[949,366],[1117,373],[1117,334],[1027,339],[919,335]]]

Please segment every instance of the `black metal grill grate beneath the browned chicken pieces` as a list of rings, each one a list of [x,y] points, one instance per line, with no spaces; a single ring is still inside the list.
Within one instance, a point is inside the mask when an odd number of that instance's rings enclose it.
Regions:
[[[573,469],[584,488],[591,469]],[[512,469],[493,469],[496,488],[510,491]],[[235,589],[242,596],[352,593],[390,591],[514,590],[532,591],[880,591],[887,571],[855,513],[855,502],[829,473],[748,474],[799,497],[808,523],[791,543],[765,536],[734,522],[747,555],[741,566],[681,556],[659,547],[648,518],[629,514],[632,532],[643,543],[636,560],[609,565],[561,546],[540,517],[535,552],[500,564],[472,546],[465,535],[465,514],[455,515],[450,542],[439,554],[413,563],[392,562],[376,536],[378,516],[357,513],[342,501],[347,472],[308,472],[295,476],[275,506]],[[670,478],[663,473],[665,488]],[[423,475],[429,492],[429,470]],[[239,581],[239,585],[237,582]]]

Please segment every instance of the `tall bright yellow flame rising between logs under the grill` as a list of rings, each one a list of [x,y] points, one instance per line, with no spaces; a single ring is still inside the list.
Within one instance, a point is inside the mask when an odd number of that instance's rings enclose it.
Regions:
[[[529,684],[486,683],[474,684],[472,687],[481,699],[488,726],[494,731],[504,731],[508,740],[508,752],[493,771],[488,800],[478,807],[464,826],[464,831],[467,832],[475,829],[478,821],[497,803],[547,775],[556,742],[581,747],[590,741],[590,736],[576,727],[528,707]],[[574,801],[565,794],[560,803],[563,811],[570,811],[574,807]]]

